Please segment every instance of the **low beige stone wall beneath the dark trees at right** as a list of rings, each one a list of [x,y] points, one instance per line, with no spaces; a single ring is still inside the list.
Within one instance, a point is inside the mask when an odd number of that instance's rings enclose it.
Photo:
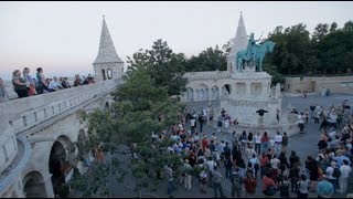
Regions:
[[[307,76],[286,77],[285,92],[295,93],[301,91],[319,92],[323,88],[329,88],[331,93],[353,93],[353,76],[332,76],[332,77],[315,77]]]

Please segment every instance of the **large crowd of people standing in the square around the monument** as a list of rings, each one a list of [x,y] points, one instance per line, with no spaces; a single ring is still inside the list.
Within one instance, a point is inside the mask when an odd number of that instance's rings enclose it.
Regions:
[[[207,136],[203,127],[213,122],[212,109],[191,111],[173,126],[170,136],[173,145],[167,150],[181,156],[183,171],[175,176],[176,168],[173,165],[164,167],[168,195],[173,193],[178,184],[184,184],[184,188],[190,190],[193,188],[191,181],[197,180],[201,193],[213,188],[214,197],[225,197],[227,193],[222,187],[223,178],[231,187],[232,198],[254,197],[255,193],[274,196],[276,192],[280,197],[298,198],[308,198],[310,192],[319,198],[330,198],[335,192],[346,193],[352,171],[353,133],[353,115],[346,106],[315,106],[310,107],[311,113],[308,108],[300,114],[296,111],[302,116],[303,123],[327,122],[320,125],[322,134],[317,157],[307,156],[306,159],[301,159],[293,149],[289,155],[289,137],[286,132],[277,132],[274,137],[269,137],[267,132],[254,134],[244,130],[239,136],[234,132],[232,140],[217,138],[218,133]],[[347,121],[344,124],[335,119],[345,116]],[[222,117],[228,117],[224,109],[218,118]],[[199,130],[196,126],[200,127]],[[342,129],[340,136],[335,134],[338,129]],[[153,134],[152,138],[158,139],[159,136]],[[258,192],[256,188],[260,185],[261,192]]]

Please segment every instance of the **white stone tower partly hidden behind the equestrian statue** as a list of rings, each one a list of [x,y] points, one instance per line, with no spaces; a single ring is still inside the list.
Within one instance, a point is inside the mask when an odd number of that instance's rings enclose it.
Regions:
[[[235,72],[236,70],[236,53],[247,46],[247,34],[244,25],[243,14],[240,12],[240,18],[238,22],[238,28],[236,30],[235,38],[233,39],[233,46],[227,56],[227,71]]]

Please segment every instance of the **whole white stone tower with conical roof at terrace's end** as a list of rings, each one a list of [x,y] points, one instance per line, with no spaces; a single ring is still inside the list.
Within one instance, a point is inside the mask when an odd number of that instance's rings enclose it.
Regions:
[[[93,63],[96,81],[119,78],[124,74],[124,62],[118,56],[103,15],[98,55]]]

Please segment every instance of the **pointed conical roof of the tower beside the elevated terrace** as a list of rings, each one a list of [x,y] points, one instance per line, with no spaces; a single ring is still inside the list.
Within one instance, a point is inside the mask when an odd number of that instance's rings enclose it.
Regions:
[[[110,33],[106,23],[106,20],[103,17],[103,27],[100,33],[99,51],[98,55],[93,64],[99,63],[117,63],[122,62],[118,56]]]

